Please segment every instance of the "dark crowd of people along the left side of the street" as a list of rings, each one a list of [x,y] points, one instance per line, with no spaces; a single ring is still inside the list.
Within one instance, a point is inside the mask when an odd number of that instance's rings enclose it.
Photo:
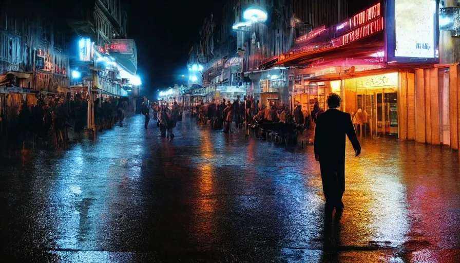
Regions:
[[[95,122],[99,130],[122,126],[127,101],[106,98],[94,101]],[[87,126],[88,100],[83,93],[39,95],[35,105],[23,101],[6,106],[0,114],[0,148],[11,156],[31,147],[62,147],[69,142],[69,128],[75,139],[82,138]]]

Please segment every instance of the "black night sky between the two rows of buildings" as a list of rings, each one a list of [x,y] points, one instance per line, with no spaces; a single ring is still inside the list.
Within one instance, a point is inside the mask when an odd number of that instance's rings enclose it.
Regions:
[[[204,18],[220,17],[223,4],[219,0],[126,2],[128,37],[136,40],[145,95],[153,96],[186,74],[188,51],[199,41]]]

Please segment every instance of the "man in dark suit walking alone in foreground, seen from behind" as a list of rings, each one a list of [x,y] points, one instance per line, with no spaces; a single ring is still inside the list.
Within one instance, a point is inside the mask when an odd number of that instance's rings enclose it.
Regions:
[[[329,96],[329,110],[318,115],[315,130],[315,158],[319,161],[326,207],[332,209],[343,209],[345,135],[355,149],[355,156],[361,154],[350,114],[338,110],[339,106],[340,96],[335,93]]]

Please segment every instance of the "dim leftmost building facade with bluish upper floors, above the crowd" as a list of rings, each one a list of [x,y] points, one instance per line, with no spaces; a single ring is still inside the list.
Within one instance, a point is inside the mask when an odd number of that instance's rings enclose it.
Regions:
[[[24,6],[25,5],[25,6]],[[0,105],[36,104],[37,92],[69,86],[67,28],[36,2],[0,10]],[[1,112],[0,112],[1,113]]]

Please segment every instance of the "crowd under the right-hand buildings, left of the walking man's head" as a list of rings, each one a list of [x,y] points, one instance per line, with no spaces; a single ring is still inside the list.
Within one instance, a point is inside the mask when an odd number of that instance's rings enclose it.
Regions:
[[[263,107],[252,95],[244,96],[242,100],[237,97],[233,102],[212,100],[194,108],[198,122],[209,124],[215,130],[234,133],[237,129],[243,129],[246,136],[251,133],[267,139],[270,136],[286,144],[297,143],[297,137],[303,136],[305,130],[310,132],[307,136],[313,142],[314,123],[321,112],[318,101],[314,102],[312,111],[302,110],[297,103],[291,114],[285,105],[276,107],[269,103]]]

